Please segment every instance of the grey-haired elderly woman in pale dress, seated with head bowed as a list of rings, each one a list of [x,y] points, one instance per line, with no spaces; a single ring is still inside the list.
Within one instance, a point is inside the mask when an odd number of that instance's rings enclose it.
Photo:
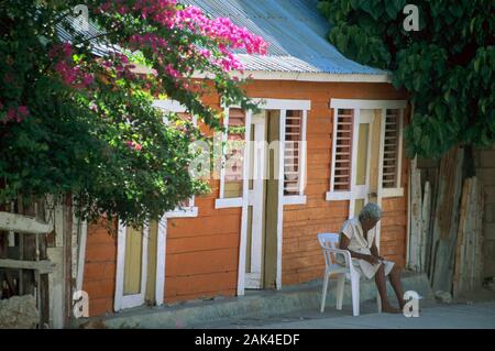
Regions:
[[[394,262],[386,261],[378,255],[375,243],[375,233],[372,230],[382,218],[382,209],[378,205],[369,202],[361,210],[359,218],[351,218],[342,224],[340,230],[340,249],[351,252],[352,263],[361,275],[369,279],[375,277],[382,299],[382,311],[398,314],[403,310],[404,292],[400,283],[400,268]],[[339,255],[339,263],[343,263],[343,256]],[[400,309],[388,303],[386,279],[388,276],[394,292],[397,295]]]

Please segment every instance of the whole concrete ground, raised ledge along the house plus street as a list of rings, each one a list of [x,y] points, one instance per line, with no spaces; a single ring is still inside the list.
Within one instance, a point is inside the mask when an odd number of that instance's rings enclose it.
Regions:
[[[155,307],[136,307],[106,317],[75,320],[73,328],[124,329],[305,329],[305,328],[495,328],[495,292],[480,289],[451,304],[435,300],[424,273],[404,273],[405,290],[417,292],[420,316],[377,314],[376,286],[361,282],[361,316],[352,316],[351,288],[344,288],[343,309],[336,310],[331,282],[326,310],[319,312],[321,282],[276,290],[246,290],[244,296],[218,297]],[[395,294],[388,286],[388,296]]]

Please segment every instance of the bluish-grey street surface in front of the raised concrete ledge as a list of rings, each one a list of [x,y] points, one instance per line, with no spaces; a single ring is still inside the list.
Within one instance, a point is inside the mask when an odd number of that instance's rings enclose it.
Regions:
[[[268,318],[243,318],[217,321],[193,328],[207,329],[495,329],[495,293],[480,289],[451,304],[420,300],[419,317],[377,314],[376,303],[361,304],[361,316],[353,317],[352,308],[341,311],[326,308],[323,314],[299,310]]]

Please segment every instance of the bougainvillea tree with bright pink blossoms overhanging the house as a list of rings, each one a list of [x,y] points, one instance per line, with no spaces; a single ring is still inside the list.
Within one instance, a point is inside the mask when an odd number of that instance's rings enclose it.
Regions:
[[[187,171],[198,130],[152,102],[201,97],[253,108],[232,54],[266,43],[176,0],[0,1],[0,202],[72,194],[80,215],[143,223],[207,189]],[[195,74],[206,79],[195,80]]]

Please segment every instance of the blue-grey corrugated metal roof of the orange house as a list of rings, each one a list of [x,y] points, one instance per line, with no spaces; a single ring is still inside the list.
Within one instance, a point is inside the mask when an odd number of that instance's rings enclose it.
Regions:
[[[227,17],[270,43],[266,56],[238,53],[246,70],[365,74],[386,72],[345,58],[327,40],[318,0],[180,0],[213,18]]]

